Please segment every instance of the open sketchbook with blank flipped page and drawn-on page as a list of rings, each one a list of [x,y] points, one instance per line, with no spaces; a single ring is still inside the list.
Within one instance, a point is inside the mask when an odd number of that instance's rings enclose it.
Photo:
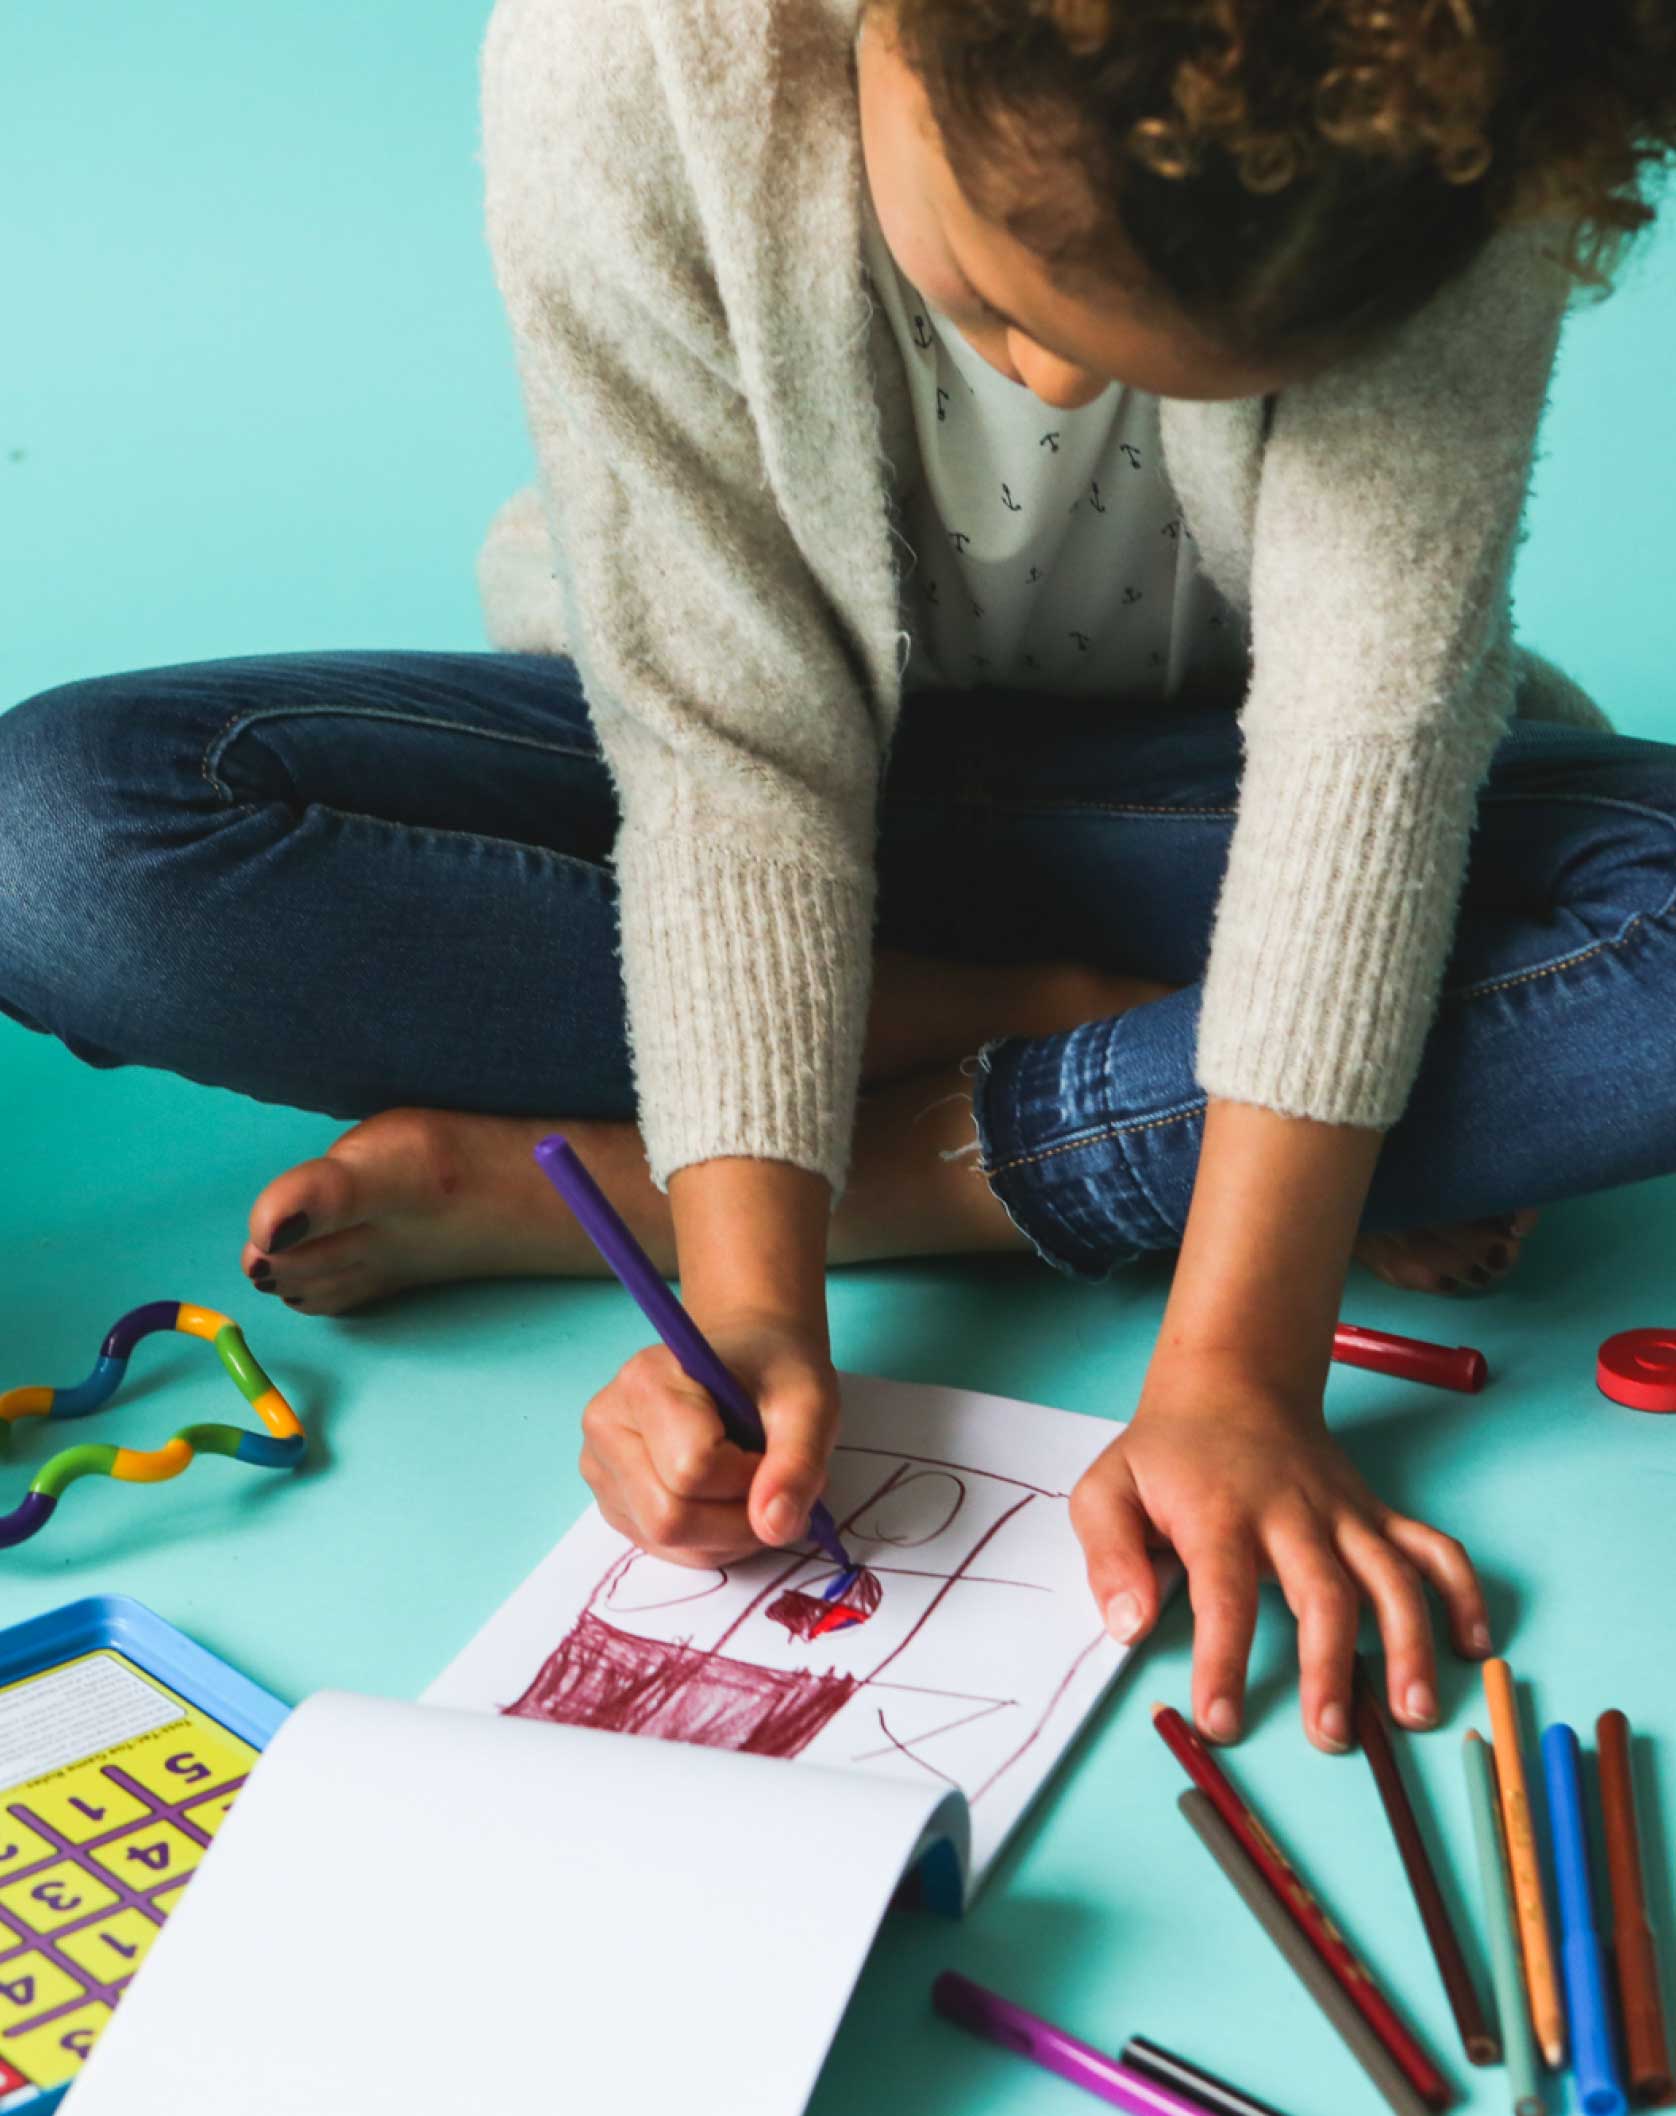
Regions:
[[[590,1511],[421,1703],[307,1699],[78,2116],[798,2116],[904,1877],[969,1900],[1126,1657],[1067,1515],[1113,1424],[842,1390],[842,1595]]]

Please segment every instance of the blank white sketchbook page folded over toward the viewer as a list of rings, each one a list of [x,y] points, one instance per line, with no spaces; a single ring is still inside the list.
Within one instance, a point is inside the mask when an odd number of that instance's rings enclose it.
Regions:
[[[940,1816],[942,1809],[942,1816]],[[796,2116],[946,1788],[324,1691],[76,2116]]]

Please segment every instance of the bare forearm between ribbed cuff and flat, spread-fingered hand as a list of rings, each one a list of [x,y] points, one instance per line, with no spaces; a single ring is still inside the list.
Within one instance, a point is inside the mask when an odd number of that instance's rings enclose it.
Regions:
[[[1158,1356],[1236,1361],[1318,1401],[1382,1143],[1213,1096]]]

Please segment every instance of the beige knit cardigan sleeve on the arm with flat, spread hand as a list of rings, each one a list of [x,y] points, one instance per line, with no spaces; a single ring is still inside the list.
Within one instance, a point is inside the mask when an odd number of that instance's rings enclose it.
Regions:
[[[1371,1128],[1407,1102],[1513,711],[1509,571],[1568,290],[1549,241],[1498,233],[1378,349],[1274,402],[1208,1094]]]

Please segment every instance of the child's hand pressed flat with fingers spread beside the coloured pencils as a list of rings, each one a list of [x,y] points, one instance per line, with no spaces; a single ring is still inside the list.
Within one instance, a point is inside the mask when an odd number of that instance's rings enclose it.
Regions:
[[[1253,1386],[1232,1361],[1155,1365],[1134,1422],[1071,1494],[1071,1519],[1122,1640],[1158,1617],[1147,1545],[1174,1545],[1194,1606],[1194,1720],[1213,1741],[1240,1733],[1259,1576],[1278,1579],[1297,1617],[1304,1727],[1318,1748],[1350,1746],[1363,1595],[1384,1640],[1390,1710],[1407,1727],[1437,1720],[1422,1583],[1443,1598],[1456,1650],[1490,1650],[1467,1551],[1376,1498],[1318,1403]]]

